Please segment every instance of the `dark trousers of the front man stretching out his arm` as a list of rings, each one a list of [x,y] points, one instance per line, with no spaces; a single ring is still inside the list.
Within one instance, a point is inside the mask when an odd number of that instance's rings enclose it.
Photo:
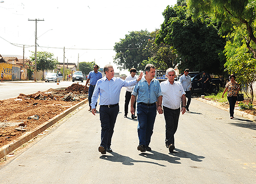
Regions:
[[[103,146],[105,149],[110,148],[118,113],[119,105],[113,108],[100,106],[101,146]]]

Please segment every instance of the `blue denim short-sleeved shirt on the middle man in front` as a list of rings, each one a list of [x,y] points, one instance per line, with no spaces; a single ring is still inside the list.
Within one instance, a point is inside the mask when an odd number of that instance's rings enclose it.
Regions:
[[[153,104],[157,102],[157,98],[162,96],[160,83],[157,79],[152,79],[150,85],[145,76],[138,82],[131,92],[132,95],[138,96],[137,103]]]

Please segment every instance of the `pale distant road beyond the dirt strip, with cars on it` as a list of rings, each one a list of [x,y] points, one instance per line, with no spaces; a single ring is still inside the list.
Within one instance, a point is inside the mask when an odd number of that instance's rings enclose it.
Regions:
[[[18,97],[20,93],[32,94],[38,91],[45,91],[50,88],[68,87],[77,81],[60,81],[59,85],[56,82],[34,82],[34,81],[5,81],[0,83],[0,100],[7,98]],[[79,84],[85,85],[85,82],[79,82]]]

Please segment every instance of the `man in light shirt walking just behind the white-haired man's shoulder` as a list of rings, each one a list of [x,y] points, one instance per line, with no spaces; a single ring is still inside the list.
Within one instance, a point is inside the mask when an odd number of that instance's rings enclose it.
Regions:
[[[184,71],[184,75],[181,75],[179,78],[179,82],[181,83],[184,91],[185,91],[185,95],[186,98],[188,98],[187,104],[182,104],[181,102],[181,106],[185,106],[186,110],[189,111],[189,105],[191,103],[191,77],[188,75],[189,74],[189,69],[185,69]]]

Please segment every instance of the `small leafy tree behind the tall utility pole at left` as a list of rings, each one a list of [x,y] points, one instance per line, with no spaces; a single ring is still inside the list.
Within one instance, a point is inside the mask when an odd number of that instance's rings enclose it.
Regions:
[[[44,74],[45,70],[55,69],[59,65],[59,62],[53,57],[54,54],[50,52],[36,52],[36,70],[42,70]],[[32,52],[30,59],[35,62],[35,52]]]

